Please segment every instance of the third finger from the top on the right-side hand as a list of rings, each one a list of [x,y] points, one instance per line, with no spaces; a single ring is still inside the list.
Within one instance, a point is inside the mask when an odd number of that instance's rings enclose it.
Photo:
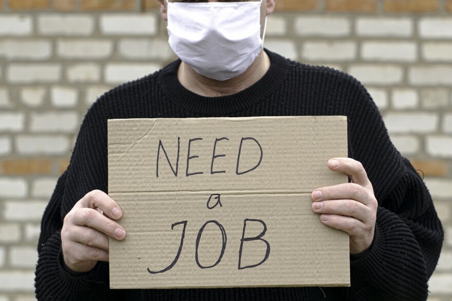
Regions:
[[[354,217],[364,224],[371,220],[368,207],[351,199],[325,200],[312,203],[315,213]]]

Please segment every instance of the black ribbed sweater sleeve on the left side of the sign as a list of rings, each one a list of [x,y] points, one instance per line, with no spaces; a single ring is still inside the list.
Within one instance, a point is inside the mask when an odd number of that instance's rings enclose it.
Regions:
[[[59,178],[44,212],[35,270],[38,300],[117,300],[109,290],[108,263],[99,262],[87,273],[69,273],[61,256],[63,219],[73,205],[93,189],[107,191],[106,117],[91,108],[81,126],[66,172]]]

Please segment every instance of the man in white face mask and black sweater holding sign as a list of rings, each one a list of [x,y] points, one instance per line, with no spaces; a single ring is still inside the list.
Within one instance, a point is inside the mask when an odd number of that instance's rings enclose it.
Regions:
[[[181,60],[104,94],[88,111],[70,165],[43,216],[38,299],[423,300],[443,230],[431,197],[389,140],[364,87],[344,73],[263,50],[275,0],[157,0]],[[190,26],[185,26],[190,25]],[[127,229],[108,197],[111,118],[347,115],[350,158],[329,169],[351,182],[312,192],[314,212],[350,235],[350,288],[110,290],[108,236]]]

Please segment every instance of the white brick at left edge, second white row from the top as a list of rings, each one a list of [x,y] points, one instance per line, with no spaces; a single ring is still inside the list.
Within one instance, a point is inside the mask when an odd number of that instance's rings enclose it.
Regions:
[[[52,44],[42,39],[4,39],[0,41],[0,57],[6,59],[48,59],[52,55]]]

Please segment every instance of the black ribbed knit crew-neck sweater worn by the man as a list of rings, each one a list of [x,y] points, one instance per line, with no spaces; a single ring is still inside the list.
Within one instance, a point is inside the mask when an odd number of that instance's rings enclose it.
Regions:
[[[70,164],[60,177],[42,220],[36,266],[39,300],[425,300],[443,230],[418,173],[392,145],[365,88],[342,72],[289,61],[267,51],[271,66],[237,94],[203,97],[177,79],[180,61],[107,92],[81,126]],[[107,119],[346,115],[349,156],[372,182],[379,208],[374,241],[350,262],[351,287],[110,290],[108,263],[68,273],[62,264],[64,216],[87,192],[107,192]]]

